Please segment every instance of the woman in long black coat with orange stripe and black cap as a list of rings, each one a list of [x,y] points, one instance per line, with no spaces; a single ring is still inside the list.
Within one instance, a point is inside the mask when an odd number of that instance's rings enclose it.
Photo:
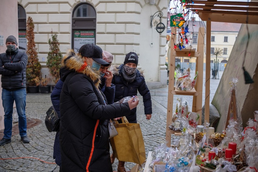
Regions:
[[[62,59],[65,68],[60,95],[60,146],[62,171],[112,172],[109,154],[108,119],[128,115],[139,101],[108,104],[99,89],[102,49],[83,45],[79,53],[68,51]]]

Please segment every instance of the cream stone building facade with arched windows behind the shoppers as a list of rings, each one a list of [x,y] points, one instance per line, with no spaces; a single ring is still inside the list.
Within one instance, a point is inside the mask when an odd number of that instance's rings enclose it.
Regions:
[[[93,43],[109,51],[113,63],[120,65],[125,55],[134,51],[148,87],[166,87],[166,31],[159,34],[155,30],[155,22],[160,20],[157,17],[151,28],[150,18],[157,11],[166,14],[167,4],[167,0],[18,0],[18,10],[24,10],[19,16],[20,49],[26,49],[24,26],[31,16],[42,76],[48,76],[48,40],[57,34],[62,54],[68,48],[78,51],[81,45]],[[162,21],[166,22],[165,15]]]

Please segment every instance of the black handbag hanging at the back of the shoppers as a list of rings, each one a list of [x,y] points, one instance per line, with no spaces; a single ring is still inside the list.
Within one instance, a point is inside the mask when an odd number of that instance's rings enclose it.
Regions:
[[[60,119],[53,106],[46,111],[45,124],[49,132],[59,131]]]

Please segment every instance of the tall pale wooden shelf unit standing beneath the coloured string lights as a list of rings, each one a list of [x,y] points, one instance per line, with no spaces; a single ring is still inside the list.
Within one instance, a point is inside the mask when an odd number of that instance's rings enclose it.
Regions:
[[[172,49],[172,47],[176,44],[175,40],[177,40],[176,29],[171,28],[171,37],[170,37],[170,74],[169,75],[169,83],[168,83],[168,98],[167,98],[167,127],[166,127],[166,141],[167,146],[171,146],[171,135],[174,134],[176,136],[180,136],[181,132],[175,132],[169,129],[169,125],[172,121],[172,117],[174,114],[173,111],[173,101],[174,95],[190,95],[193,96],[193,104],[192,104],[192,112],[196,112],[200,114],[200,118],[198,124],[201,124],[202,119],[202,91],[203,91],[203,55],[204,55],[204,39],[200,35],[204,33],[204,28],[199,28],[198,32],[198,45],[197,51],[194,49]],[[190,55],[189,55],[190,53]],[[198,71],[198,77],[196,80],[196,85],[191,91],[180,91],[174,88],[174,72],[176,66],[175,59],[176,57],[196,57],[196,71]]]

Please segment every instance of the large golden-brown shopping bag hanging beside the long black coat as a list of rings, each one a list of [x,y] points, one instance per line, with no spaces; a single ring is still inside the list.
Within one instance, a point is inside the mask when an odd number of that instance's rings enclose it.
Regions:
[[[140,124],[128,123],[126,117],[122,117],[122,122],[116,121],[118,135],[110,139],[115,157],[120,161],[144,163],[146,154]]]

